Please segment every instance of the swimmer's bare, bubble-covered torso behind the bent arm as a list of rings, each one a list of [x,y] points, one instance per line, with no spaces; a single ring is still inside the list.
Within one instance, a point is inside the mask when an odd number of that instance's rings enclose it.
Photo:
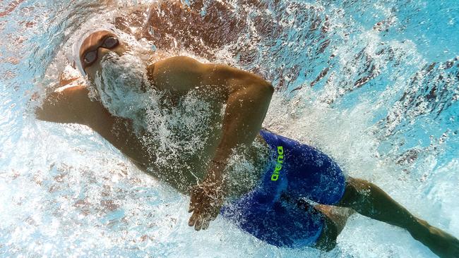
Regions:
[[[136,166],[186,194],[205,178],[222,135],[223,107],[213,102],[208,92],[198,89],[181,96],[165,94],[160,106],[162,116],[151,118],[145,114],[148,129],[136,133],[131,119],[112,116],[100,102],[88,98],[88,90],[81,91],[80,116],[84,123]],[[236,150],[227,169],[230,196],[242,195],[258,182],[267,149],[258,135],[254,146]]]

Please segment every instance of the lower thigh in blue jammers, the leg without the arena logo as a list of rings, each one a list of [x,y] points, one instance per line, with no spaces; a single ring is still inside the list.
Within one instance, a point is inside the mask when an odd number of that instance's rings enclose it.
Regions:
[[[256,238],[278,247],[314,245],[323,228],[323,214],[311,206],[284,199],[265,202],[253,192],[222,207],[220,214]]]

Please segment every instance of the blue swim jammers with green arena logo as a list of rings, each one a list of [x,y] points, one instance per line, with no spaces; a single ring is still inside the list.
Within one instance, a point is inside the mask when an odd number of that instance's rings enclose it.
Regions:
[[[260,134],[272,149],[261,183],[222,207],[220,214],[270,245],[311,246],[323,230],[323,214],[281,195],[332,205],[344,194],[345,176],[335,161],[313,147],[266,130]]]

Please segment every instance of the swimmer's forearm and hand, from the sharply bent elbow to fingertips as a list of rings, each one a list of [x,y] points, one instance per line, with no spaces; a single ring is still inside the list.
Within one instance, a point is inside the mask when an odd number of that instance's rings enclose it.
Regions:
[[[196,230],[208,228],[220,213],[227,195],[223,174],[232,150],[251,145],[266,116],[274,89],[269,82],[229,66],[209,65],[205,85],[214,85],[225,99],[226,109],[222,137],[207,175],[191,192],[189,226]],[[223,82],[222,84],[220,84]],[[244,148],[242,148],[244,149]]]

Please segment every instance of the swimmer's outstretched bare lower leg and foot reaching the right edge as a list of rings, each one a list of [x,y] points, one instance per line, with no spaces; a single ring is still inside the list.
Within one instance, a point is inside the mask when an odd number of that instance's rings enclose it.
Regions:
[[[345,194],[337,206],[352,208],[371,219],[405,228],[439,257],[459,257],[458,239],[416,218],[378,186],[351,177],[346,181]]]

